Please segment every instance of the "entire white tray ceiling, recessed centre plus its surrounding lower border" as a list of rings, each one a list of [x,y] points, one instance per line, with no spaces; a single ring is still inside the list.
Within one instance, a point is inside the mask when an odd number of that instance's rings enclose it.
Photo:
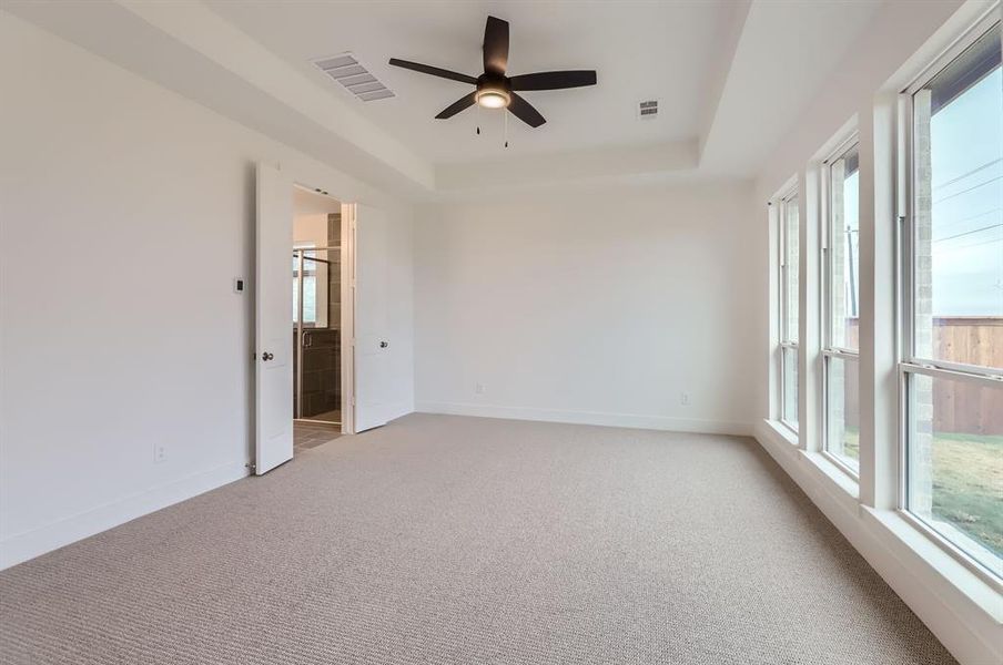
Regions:
[[[883,0],[7,0],[4,10],[407,198],[556,183],[751,177],[837,73]],[[509,73],[596,69],[594,88],[527,92],[537,130],[470,88],[389,66],[480,73],[488,14]],[[396,92],[361,102],[311,60],[351,51]],[[636,119],[642,98],[655,121]],[[849,120],[849,119],[848,119]]]

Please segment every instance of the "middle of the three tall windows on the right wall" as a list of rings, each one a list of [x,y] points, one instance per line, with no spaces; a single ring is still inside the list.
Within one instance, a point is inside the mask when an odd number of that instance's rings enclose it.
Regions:
[[[854,142],[829,160],[825,231],[822,239],[823,450],[857,475],[860,469],[859,146]]]

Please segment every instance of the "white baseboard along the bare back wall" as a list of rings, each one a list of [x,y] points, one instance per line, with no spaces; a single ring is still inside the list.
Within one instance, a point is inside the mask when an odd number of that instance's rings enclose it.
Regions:
[[[751,437],[753,431],[752,423],[728,420],[669,418],[667,416],[640,416],[636,413],[609,413],[604,411],[564,411],[558,409],[502,407],[464,402],[418,401],[415,403],[415,410],[423,413],[479,416],[483,418],[508,418],[511,420],[541,420],[546,422],[570,422],[574,424],[599,424],[606,427],[655,429],[675,432],[699,432],[705,434],[737,434]]]

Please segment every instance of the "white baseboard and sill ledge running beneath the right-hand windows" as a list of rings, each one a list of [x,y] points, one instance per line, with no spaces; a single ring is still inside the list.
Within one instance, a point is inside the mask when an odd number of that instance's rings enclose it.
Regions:
[[[1003,603],[994,590],[893,511],[860,505],[769,422],[757,423],[754,436],[960,663],[1003,663]]]

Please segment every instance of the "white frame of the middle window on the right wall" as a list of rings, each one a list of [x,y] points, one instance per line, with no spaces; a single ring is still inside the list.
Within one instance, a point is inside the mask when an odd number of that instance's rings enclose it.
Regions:
[[[849,475],[854,482],[860,482],[860,470],[853,469],[839,456],[833,454],[829,450],[829,376],[832,359],[842,360],[843,362],[855,362],[858,377],[860,376],[860,349],[850,349],[847,347],[835,346],[832,344],[832,260],[830,247],[833,243],[832,228],[832,163],[840,160],[843,155],[853,149],[860,152],[860,133],[853,130],[839,145],[830,153],[823,162],[821,170],[821,182],[819,187],[819,200],[822,204],[820,223],[822,225],[819,234],[819,260],[820,260],[820,278],[819,288],[821,289],[819,303],[821,305],[821,335],[820,335],[820,356],[821,365],[821,437],[820,449],[822,456],[832,462],[837,469]],[[858,168],[859,171],[859,168]],[[859,258],[858,258],[859,260]],[[859,275],[858,275],[859,283]],[[858,386],[858,395],[860,387]]]

